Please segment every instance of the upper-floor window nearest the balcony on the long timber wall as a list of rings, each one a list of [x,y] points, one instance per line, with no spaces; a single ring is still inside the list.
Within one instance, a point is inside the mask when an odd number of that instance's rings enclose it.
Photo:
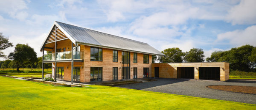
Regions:
[[[91,47],[90,60],[91,61],[102,61],[102,48]]]

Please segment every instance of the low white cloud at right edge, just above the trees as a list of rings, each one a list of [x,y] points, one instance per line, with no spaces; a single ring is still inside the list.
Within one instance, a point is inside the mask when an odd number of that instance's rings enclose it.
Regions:
[[[234,30],[218,34],[216,42],[228,40],[233,46],[250,44],[256,46],[256,25],[247,27],[244,30]]]

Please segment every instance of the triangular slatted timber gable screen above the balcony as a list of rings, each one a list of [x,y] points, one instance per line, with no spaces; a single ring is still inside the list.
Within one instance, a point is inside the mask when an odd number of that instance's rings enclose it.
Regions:
[[[55,40],[61,40],[66,38],[67,36],[57,26],[54,26],[47,38],[46,44],[54,42]]]

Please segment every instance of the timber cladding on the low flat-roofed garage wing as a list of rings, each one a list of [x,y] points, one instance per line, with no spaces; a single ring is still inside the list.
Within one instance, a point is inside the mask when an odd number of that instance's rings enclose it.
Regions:
[[[154,67],[159,67],[159,77],[177,78],[177,67],[194,67],[194,78],[199,80],[199,67],[220,67],[220,80],[229,79],[229,63],[226,62],[199,62],[199,63],[152,63],[152,77]]]

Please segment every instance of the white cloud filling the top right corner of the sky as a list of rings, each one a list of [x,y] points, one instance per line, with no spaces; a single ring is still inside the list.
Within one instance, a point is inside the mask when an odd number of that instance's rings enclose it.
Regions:
[[[233,6],[226,16],[227,22],[236,24],[256,23],[256,0],[241,0],[239,5]]]

